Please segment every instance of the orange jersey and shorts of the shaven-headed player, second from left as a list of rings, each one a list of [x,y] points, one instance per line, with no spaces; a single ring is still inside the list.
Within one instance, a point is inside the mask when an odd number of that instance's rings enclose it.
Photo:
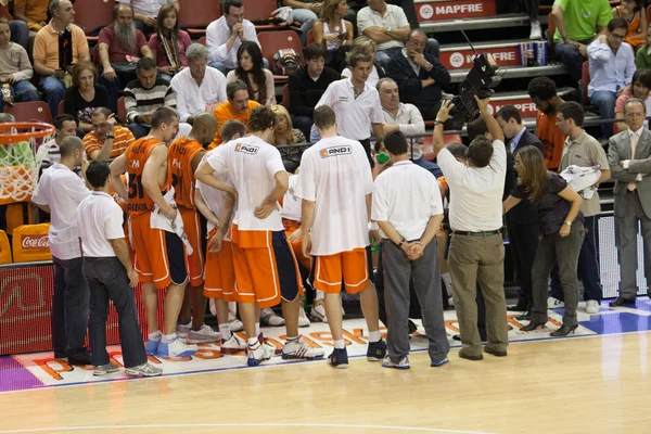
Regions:
[[[169,145],[167,162],[171,174],[171,186],[174,187],[175,201],[183,219],[183,228],[190,245],[192,255],[188,258],[190,263],[190,284],[200,286],[203,284],[204,251],[205,251],[205,220],[202,221],[194,203],[194,170],[192,159],[204,149],[196,140],[181,137]]]

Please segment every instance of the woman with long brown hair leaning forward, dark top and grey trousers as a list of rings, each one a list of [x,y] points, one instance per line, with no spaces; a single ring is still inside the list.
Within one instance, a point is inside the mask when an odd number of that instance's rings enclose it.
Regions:
[[[532,320],[522,331],[545,327],[547,316],[547,288],[549,273],[559,264],[561,284],[565,296],[563,324],[551,336],[565,336],[578,327],[578,279],[576,269],[578,254],[585,237],[580,204],[583,200],[560,176],[545,167],[542,153],[535,146],[524,146],[513,157],[518,170],[518,183],[513,193],[505,201],[508,213],[523,199],[528,199],[538,208],[538,225],[542,239],[536,251],[532,269],[534,307]]]

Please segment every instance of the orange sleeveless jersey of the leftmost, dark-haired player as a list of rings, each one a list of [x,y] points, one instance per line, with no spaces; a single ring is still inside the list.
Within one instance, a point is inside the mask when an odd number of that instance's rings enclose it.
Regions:
[[[144,188],[142,187],[142,173],[144,170],[144,164],[154,148],[164,145],[165,144],[157,139],[144,137],[136,140],[127,149],[127,173],[129,174],[127,213],[129,216],[140,216],[154,210],[154,201],[146,195]],[[171,174],[168,168],[165,186],[161,188],[163,195],[169,190],[170,186]]]

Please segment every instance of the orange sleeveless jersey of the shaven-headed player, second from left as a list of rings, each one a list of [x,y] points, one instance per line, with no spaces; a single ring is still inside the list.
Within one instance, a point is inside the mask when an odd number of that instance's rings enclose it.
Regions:
[[[177,205],[196,209],[194,204],[194,170],[192,159],[204,149],[196,140],[178,138],[169,146],[167,162],[171,173],[175,201]]]

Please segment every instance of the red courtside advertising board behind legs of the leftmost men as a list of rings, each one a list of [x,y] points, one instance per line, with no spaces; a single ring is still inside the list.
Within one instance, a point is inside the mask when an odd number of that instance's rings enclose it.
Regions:
[[[28,242],[30,243],[30,242]],[[138,317],[146,336],[141,286],[135,290]],[[54,294],[54,267],[0,267],[0,356],[49,352],[52,349],[51,308]],[[162,304],[161,304],[162,305]],[[162,309],[158,321],[162,321]],[[117,312],[108,311],[107,343],[118,344]]]

